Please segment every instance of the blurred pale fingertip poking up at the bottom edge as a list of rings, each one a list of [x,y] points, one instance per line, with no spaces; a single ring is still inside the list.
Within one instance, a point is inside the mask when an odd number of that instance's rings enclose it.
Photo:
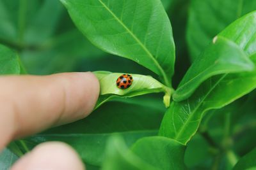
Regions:
[[[42,143],[22,157],[12,170],[41,169],[85,169],[79,155],[67,144],[60,142]]]

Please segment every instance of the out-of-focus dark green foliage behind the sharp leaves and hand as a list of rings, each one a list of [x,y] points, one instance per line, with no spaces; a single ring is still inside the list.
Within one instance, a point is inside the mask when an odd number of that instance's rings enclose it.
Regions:
[[[191,65],[191,60],[218,32],[236,18],[256,9],[255,0],[165,0],[163,4],[172,22],[176,46],[172,80],[175,88]],[[150,74],[157,78],[156,74],[136,62],[115,57],[93,46],[78,31],[58,0],[1,0],[0,21],[0,43],[19,53],[22,65],[29,74],[104,70]],[[16,62],[20,61],[14,60],[13,73],[19,72]],[[87,169],[100,168],[107,145],[107,150],[112,147],[113,150],[124,151],[125,158],[129,159],[132,155],[126,153],[127,146],[132,146],[137,139],[157,134],[165,111],[161,97],[150,94],[116,99],[84,120],[15,141],[10,150],[1,153],[0,169],[8,169],[18,156],[38,143],[52,140],[65,141],[73,146]],[[188,169],[232,169],[240,157],[255,148],[255,101],[256,93],[251,92],[220,110],[207,113],[186,148],[184,162]],[[130,108],[130,111],[122,108]],[[107,139],[113,134],[124,138],[124,141],[111,138],[113,143],[120,143],[120,148],[107,144]],[[252,157],[253,162],[255,152],[246,157]],[[245,168],[244,161],[241,159],[236,168]]]

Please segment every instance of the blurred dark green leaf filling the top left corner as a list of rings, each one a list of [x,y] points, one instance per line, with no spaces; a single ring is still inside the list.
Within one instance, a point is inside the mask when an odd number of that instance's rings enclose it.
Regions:
[[[35,47],[54,33],[62,11],[58,1],[1,1],[0,43],[19,49]]]

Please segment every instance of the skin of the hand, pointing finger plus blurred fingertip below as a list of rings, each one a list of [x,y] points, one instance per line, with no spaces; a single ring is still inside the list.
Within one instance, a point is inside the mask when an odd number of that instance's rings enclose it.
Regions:
[[[87,117],[99,96],[92,73],[0,76],[0,152],[13,139]],[[60,142],[43,143],[12,170],[85,169],[77,153]]]

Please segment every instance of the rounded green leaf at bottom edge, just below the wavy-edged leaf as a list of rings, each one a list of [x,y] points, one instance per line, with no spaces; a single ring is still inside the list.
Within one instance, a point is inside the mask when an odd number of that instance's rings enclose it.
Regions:
[[[186,169],[185,146],[161,136],[141,138],[131,148],[142,160],[159,169]]]

